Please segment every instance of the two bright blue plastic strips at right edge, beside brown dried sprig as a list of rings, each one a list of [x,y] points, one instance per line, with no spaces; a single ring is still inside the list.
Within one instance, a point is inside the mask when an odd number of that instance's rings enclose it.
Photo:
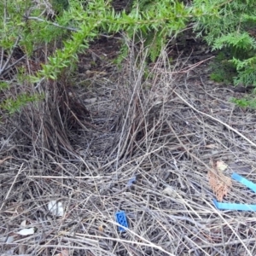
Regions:
[[[234,172],[231,176],[236,181],[244,184],[247,188],[252,189],[254,193],[256,193],[256,184],[247,180],[247,178],[238,175]],[[237,210],[237,211],[254,211],[256,212],[256,205],[248,205],[248,204],[232,204],[232,203],[221,203],[216,200],[213,200],[213,204],[219,210]]]

